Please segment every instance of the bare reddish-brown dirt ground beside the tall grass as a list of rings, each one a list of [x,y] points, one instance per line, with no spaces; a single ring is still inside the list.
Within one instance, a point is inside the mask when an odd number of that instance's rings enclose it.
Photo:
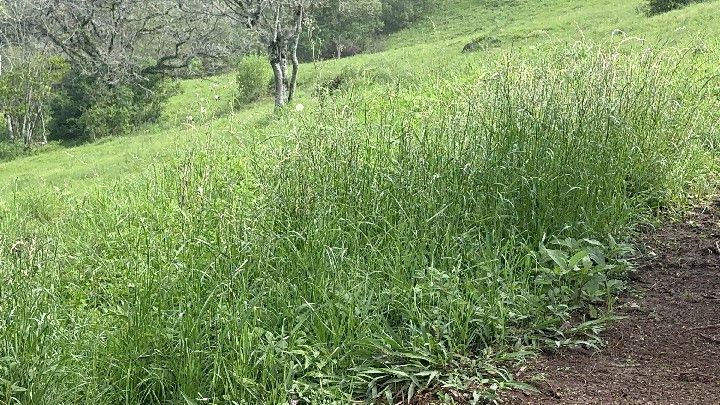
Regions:
[[[509,404],[720,404],[720,204],[649,234],[598,353],[542,355]]]

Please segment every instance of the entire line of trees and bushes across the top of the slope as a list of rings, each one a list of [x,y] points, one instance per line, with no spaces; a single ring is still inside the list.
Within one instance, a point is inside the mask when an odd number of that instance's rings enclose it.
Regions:
[[[3,0],[0,111],[28,147],[93,140],[160,116],[172,79],[262,53],[276,108],[300,62],[363,52],[435,0]]]

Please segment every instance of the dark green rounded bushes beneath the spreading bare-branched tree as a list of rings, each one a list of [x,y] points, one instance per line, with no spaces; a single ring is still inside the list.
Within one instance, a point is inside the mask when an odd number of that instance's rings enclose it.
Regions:
[[[126,134],[157,121],[165,101],[175,93],[173,82],[151,77],[146,83],[108,85],[71,73],[60,85],[52,105],[50,134],[58,140],[95,140]]]

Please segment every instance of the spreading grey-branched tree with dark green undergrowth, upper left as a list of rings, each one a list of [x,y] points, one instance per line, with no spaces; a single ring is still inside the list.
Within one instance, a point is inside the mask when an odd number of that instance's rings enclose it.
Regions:
[[[36,0],[33,0],[36,1]],[[219,18],[203,0],[49,0],[26,20],[38,41],[61,52],[72,75],[53,105],[53,132],[95,139],[159,115],[164,78],[193,60],[219,57]]]

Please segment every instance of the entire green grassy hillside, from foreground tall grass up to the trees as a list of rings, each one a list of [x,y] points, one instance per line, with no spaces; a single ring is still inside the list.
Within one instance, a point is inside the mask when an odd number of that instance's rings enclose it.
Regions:
[[[443,2],[303,65],[302,111],[187,81],[0,164],[0,402],[462,403],[598,344],[633,228],[720,150],[720,3],[611,3]]]

